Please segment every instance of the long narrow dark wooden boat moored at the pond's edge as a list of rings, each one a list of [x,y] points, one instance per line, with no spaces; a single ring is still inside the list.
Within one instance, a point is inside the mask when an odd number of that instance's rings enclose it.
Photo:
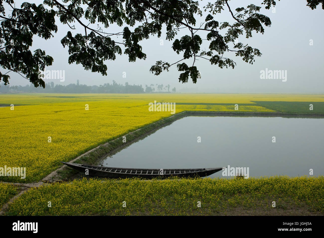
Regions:
[[[205,177],[212,175],[223,168],[203,168],[203,169],[130,169],[130,168],[114,168],[89,164],[75,164],[61,162],[81,173],[89,176],[108,177],[108,178],[168,178],[171,176],[178,177]],[[86,171],[87,169],[87,171]],[[162,175],[163,173],[163,175]]]

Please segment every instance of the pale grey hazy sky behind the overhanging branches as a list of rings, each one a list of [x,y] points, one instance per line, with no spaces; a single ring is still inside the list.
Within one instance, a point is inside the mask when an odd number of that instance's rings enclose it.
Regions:
[[[16,1],[16,5],[18,2]],[[28,2],[34,2],[37,5],[42,3],[42,1],[36,0]],[[234,69],[221,69],[203,59],[196,61],[195,65],[202,76],[196,84],[193,84],[190,78],[186,84],[179,83],[180,73],[177,71],[176,65],[173,65],[169,72],[163,72],[159,76],[149,72],[151,65],[155,64],[157,60],[174,63],[182,59],[181,53],[177,55],[172,50],[173,41],[165,40],[165,34],[162,34],[161,38],[152,36],[150,39],[140,42],[147,55],[146,60],[137,59],[136,62],[128,62],[128,56],[122,54],[117,55],[115,61],[106,61],[107,76],[86,71],[80,64],[68,64],[68,49],[67,47],[63,48],[60,41],[71,29],[67,25],[62,25],[58,19],[56,20],[58,32],[54,38],[44,40],[37,36],[34,37],[31,50],[41,48],[54,58],[53,65],[46,68],[47,70],[65,70],[64,82],[60,82],[59,79],[45,79],[46,83],[53,81],[54,84],[68,85],[76,83],[76,80],[79,79],[80,84],[100,85],[115,80],[119,84],[128,82],[131,85],[143,85],[143,87],[145,84],[169,84],[171,88],[176,87],[177,91],[181,88],[191,88],[196,92],[222,93],[324,93],[324,10],[321,9],[321,6],[311,10],[306,6],[306,0],[281,0],[280,2],[276,1],[275,13],[272,13],[273,9],[266,10],[261,2],[262,0],[232,0],[229,2],[233,11],[237,7],[246,7],[249,4],[262,6],[260,13],[270,17],[272,25],[270,28],[265,27],[263,35],[253,32],[252,38],[245,39],[245,36],[239,38],[239,42],[248,43],[253,48],[259,49],[262,53],[261,57],[257,57],[251,65],[233,54],[225,53],[225,57],[228,56],[237,63]],[[208,1],[199,1],[200,8],[203,9],[207,3]],[[203,17],[197,15],[197,27],[201,22],[204,22],[207,14],[203,12]],[[233,23],[227,8],[222,14],[215,15],[214,18],[219,22]],[[76,30],[71,30],[73,35],[79,32],[84,34],[84,28],[81,25],[78,23],[74,25]],[[111,25],[106,29],[106,32],[120,32],[123,27]],[[176,39],[187,34],[189,35],[190,31],[182,29]],[[200,32],[200,36],[202,39],[206,39],[206,32]],[[163,45],[160,45],[161,39],[163,39]],[[120,40],[122,40],[121,36],[118,40],[116,39],[116,41]],[[309,44],[310,40],[313,40],[313,45]],[[204,41],[202,49],[208,50],[208,45],[208,41]],[[188,65],[191,65],[192,62],[192,59],[186,61]],[[260,79],[260,71],[266,68],[287,70],[287,81]],[[4,70],[1,69],[1,71]],[[122,77],[123,72],[126,72],[126,78]],[[29,84],[27,79],[18,74],[11,73],[9,75],[11,76],[10,85]]]

